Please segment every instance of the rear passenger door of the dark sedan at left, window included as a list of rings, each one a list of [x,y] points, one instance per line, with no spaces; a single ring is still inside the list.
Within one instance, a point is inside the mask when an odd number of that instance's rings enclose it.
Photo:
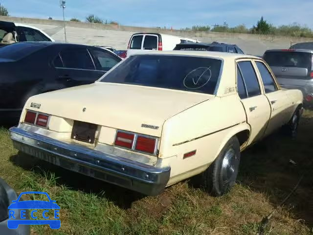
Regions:
[[[97,71],[87,48],[71,47],[60,51],[53,61],[57,80],[66,87],[90,84],[104,74]]]

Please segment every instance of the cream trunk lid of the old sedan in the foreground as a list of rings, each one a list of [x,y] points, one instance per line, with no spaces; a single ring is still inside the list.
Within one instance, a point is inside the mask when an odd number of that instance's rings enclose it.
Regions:
[[[33,96],[27,101],[25,108],[62,118],[160,136],[165,120],[212,97],[214,95],[97,82]],[[31,103],[40,104],[40,110],[31,108]]]

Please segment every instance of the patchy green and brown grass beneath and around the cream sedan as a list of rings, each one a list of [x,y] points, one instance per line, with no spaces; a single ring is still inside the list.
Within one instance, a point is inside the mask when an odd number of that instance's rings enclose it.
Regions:
[[[33,226],[34,235],[256,235],[273,210],[265,235],[313,235],[312,136],[313,112],[306,111],[296,140],[274,134],[243,152],[238,182],[220,198],[190,181],[146,197],[45,162],[29,168],[32,160],[22,159],[5,128],[0,177],[18,193],[46,191],[61,207],[61,228]],[[280,206],[301,175],[299,188]]]

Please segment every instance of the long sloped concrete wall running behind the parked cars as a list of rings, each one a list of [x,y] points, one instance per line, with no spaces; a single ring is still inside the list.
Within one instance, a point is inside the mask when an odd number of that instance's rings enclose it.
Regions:
[[[1,21],[11,21],[34,25],[43,29],[55,40],[64,41],[63,21],[33,19],[21,17],[0,17]],[[130,36],[134,32],[154,32],[198,39],[201,42],[222,41],[237,44],[250,54],[261,55],[266,49],[288,48],[291,44],[311,42],[311,38],[282,37],[241,33],[216,33],[202,31],[184,31],[147,27],[134,27],[115,24],[93,24],[84,22],[66,22],[67,41],[87,45],[104,45],[126,49]]]

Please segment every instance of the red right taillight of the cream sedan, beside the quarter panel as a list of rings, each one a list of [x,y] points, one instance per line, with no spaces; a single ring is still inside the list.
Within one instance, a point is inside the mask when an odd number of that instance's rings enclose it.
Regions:
[[[157,140],[152,136],[117,131],[114,145],[154,155],[156,154]]]

